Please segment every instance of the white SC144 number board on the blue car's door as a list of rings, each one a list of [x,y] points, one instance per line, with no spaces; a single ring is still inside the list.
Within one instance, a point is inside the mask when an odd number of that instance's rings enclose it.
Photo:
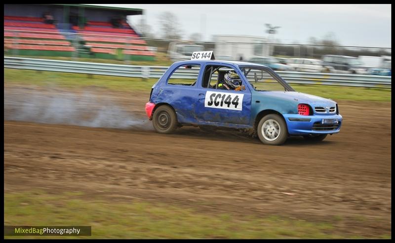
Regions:
[[[243,96],[243,94],[207,91],[204,107],[242,110]]]

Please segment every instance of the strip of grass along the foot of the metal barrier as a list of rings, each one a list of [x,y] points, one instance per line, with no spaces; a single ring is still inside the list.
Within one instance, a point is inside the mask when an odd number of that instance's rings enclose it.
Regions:
[[[67,88],[101,87],[117,91],[147,91],[158,79],[88,75],[52,71],[4,69],[4,83]],[[333,100],[391,102],[391,89],[292,84],[296,91]]]

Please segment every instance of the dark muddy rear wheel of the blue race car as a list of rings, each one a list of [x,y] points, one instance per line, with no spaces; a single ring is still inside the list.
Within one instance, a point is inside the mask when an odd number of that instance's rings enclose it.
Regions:
[[[159,106],[152,117],[155,130],[161,134],[169,134],[177,128],[177,115],[168,105]]]

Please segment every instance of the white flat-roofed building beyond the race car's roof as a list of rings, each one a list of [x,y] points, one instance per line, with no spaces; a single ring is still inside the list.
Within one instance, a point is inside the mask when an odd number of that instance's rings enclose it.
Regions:
[[[248,61],[254,56],[269,56],[267,38],[251,35],[214,35],[215,56],[228,55],[233,60]]]

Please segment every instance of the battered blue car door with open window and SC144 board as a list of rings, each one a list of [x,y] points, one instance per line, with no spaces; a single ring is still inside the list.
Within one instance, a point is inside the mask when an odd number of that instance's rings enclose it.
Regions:
[[[221,64],[221,69],[233,69],[241,77],[242,85],[245,90],[221,90],[216,87],[209,87],[206,85],[207,80],[203,76],[202,85],[198,86],[197,101],[195,104],[195,115],[199,124],[203,125],[222,125],[237,124],[248,125],[251,114],[251,91],[249,90],[246,80],[242,77],[240,71],[236,67]],[[207,64],[204,70],[219,67],[218,64]],[[213,69],[214,70],[214,69]],[[221,79],[221,73],[218,71],[209,76],[209,80]],[[204,81],[205,80],[205,81]]]

